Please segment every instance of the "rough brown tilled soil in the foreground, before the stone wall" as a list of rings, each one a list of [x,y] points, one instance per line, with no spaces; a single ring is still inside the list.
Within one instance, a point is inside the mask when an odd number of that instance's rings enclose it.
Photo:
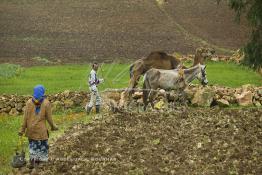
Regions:
[[[39,174],[262,174],[262,109],[119,113],[72,127]]]

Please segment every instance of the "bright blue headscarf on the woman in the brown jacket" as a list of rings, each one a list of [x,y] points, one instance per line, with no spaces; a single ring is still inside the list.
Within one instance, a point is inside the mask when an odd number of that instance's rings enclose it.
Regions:
[[[35,113],[40,112],[40,107],[45,98],[45,88],[43,85],[37,85],[34,87],[33,103],[35,104]]]

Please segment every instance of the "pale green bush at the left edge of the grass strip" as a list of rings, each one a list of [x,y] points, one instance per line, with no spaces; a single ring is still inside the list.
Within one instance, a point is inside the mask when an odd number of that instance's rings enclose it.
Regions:
[[[0,77],[12,78],[21,74],[23,68],[16,64],[0,64]]]

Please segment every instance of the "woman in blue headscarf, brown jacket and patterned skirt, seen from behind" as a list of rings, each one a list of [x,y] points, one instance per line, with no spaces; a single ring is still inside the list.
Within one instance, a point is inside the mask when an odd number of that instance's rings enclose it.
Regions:
[[[45,88],[42,85],[34,87],[34,94],[26,103],[24,121],[19,136],[24,133],[29,140],[29,168],[34,168],[40,162],[48,161],[48,130],[46,121],[51,130],[58,130],[54,125],[51,104],[45,97]]]

